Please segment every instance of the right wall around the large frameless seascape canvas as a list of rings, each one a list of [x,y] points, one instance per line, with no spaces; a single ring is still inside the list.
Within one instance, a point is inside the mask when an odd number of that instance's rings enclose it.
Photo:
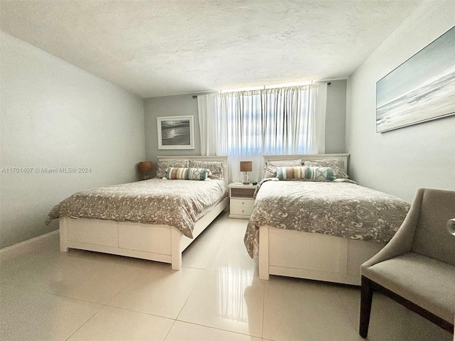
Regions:
[[[425,1],[348,79],[346,152],[360,185],[411,202],[418,188],[455,190],[455,117],[375,132],[375,85],[454,25],[453,1]]]

